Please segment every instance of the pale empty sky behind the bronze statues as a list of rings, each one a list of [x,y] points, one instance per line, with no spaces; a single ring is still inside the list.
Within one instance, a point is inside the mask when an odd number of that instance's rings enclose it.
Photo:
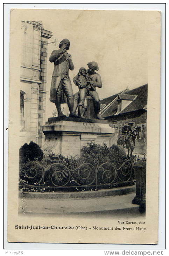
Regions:
[[[127,12],[91,13],[93,11],[73,11],[71,15],[59,13],[56,22],[41,19],[44,29],[52,32],[53,38],[60,42],[70,40],[68,53],[72,55],[75,66],[69,70],[70,79],[78,73],[80,67],[87,67],[89,61],[96,61],[99,66],[103,87],[97,88],[100,99],[124,90],[133,89],[148,82],[147,78],[147,30],[146,19],[142,12],[131,17]],[[91,15],[92,14],[92,15]],[[52,16],[53,14],[51,14]],[[55,16],[55,14],[54,14]],[[52,50],[58,45],[48,44],[47,61],[47,103],[46,119],[52,116],[56,108],[49,101],[51,75],[54,63],[49,62]],[[73,92],[78,91],[72,82]]]

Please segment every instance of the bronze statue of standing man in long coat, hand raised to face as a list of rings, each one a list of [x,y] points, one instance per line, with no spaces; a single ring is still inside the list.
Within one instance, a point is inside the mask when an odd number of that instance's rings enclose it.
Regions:
[[[61,103],[68,103],[70,117],[79,117],[73,113],[73,89],[69,77],[69,69],[73,70],[74,65],[71,54],[67,52],[69,47],[70,41],[63,39],[59,43],[59,50],[53,50],[49,58],[50,62],[54,62],[50,101],[55,103],[58,117],[65,116],[61,111]]]

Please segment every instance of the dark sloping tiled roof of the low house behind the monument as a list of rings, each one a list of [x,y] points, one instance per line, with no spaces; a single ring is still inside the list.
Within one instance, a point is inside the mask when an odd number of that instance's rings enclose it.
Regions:
[[[147,105],[147,90],[148,90],[148,84],[142,85],[140,87],[137,87],[135,89],[129,90],[125,92],[125,95],[137,95],[136,99],[133,100],[126,108],[124,108],[120,114],[124,114],[127,112],[132,112],[135,110],[143,109],[145,105]],[[106,103],[109,104],[115,97],[117,97],[118,94],[115,94],[111,97],[108,97],[106,99],[103,99],[100,101],[100,103]],[[109,100],[111,98],[111,100]],[[112,116],[115,113],[117,113],[117,101],[114,101],[102,114],[102,117]],[[118,116],[118,115],[116,115]]]

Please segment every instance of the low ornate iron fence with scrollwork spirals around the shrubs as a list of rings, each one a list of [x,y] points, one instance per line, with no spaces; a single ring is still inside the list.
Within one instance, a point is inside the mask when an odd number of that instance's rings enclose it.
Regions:
[[[49,164],[46,160],[29,161],[19,171],[19,188],[27,191],[49,191],[49,189],[89,188],[97,190],[111,185],[133,184],[133,159],[124,161],[120,167],[116,162],[82,163],[74,168],[67,163]]]

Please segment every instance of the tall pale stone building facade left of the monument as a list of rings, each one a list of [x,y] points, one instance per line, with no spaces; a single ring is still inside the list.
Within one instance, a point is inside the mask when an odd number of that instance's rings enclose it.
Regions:
[[[45,122],[48,39],[52,32],[41,22],[22,21],[20,79],[20,143],[36,142],[42,146]]]

